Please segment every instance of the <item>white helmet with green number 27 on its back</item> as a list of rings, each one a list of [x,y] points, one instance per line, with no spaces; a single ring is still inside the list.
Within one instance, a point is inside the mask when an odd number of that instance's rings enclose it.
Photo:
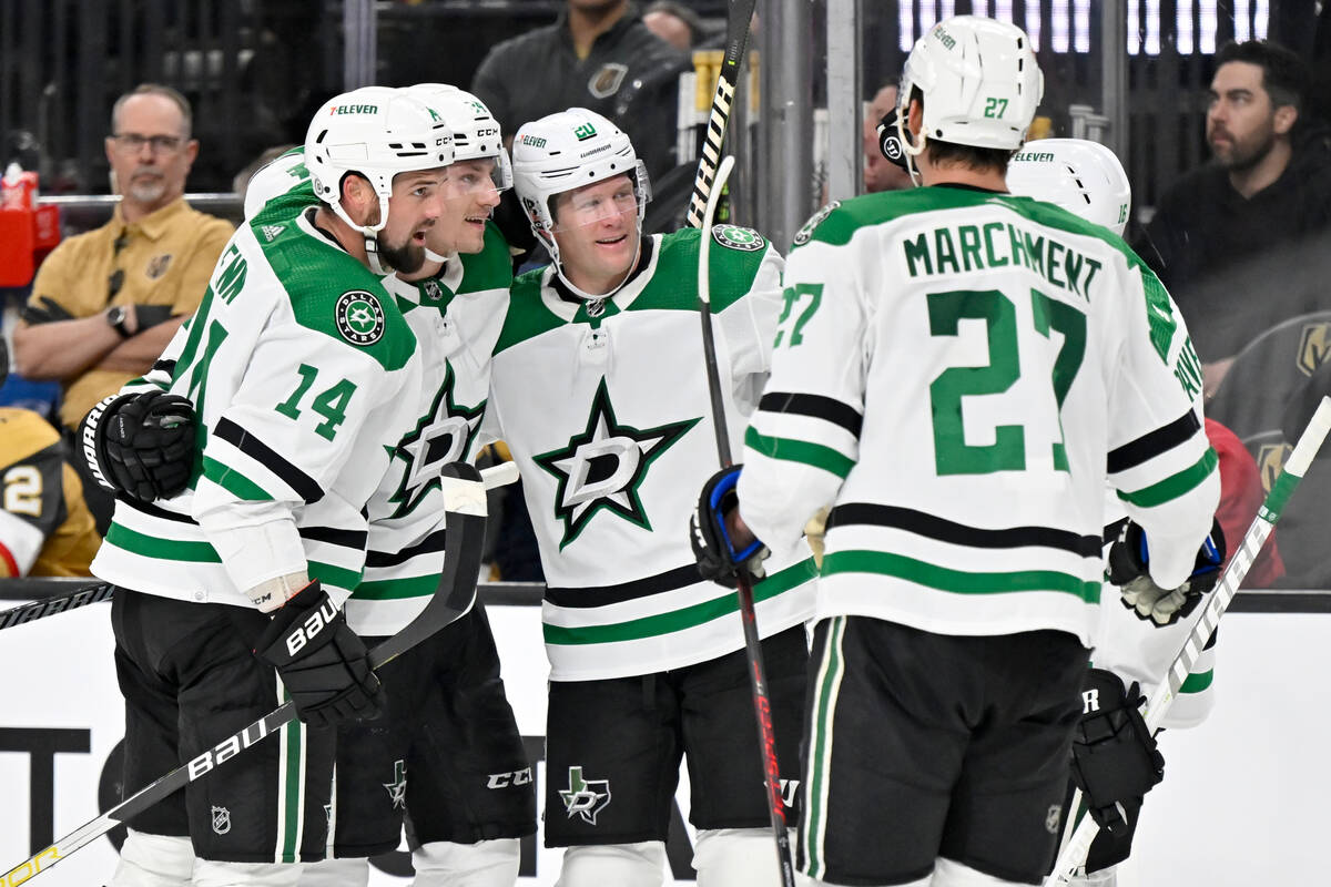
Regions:
[[[940,21],[916,41],[898,90],[897,126],[904,130],[910,93],[924,93],[917,144],[901,132],[908,154],[926,141],[1017,150],[1045,92],[1030,39],[1021,28],[981,16]]]

